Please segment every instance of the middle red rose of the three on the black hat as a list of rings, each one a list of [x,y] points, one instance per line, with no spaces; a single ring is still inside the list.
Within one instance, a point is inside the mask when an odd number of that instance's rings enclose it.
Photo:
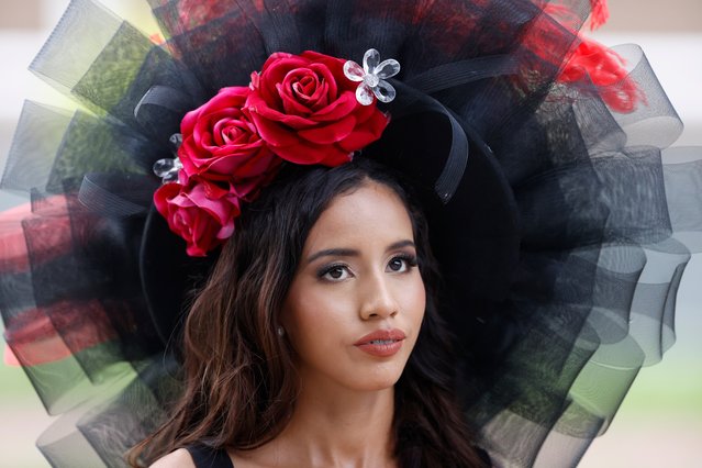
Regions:
[[[249,88],[223,88],[180,124],[178,158],[188,177],[242,180],[258,177],[280,163],[242,112]]]

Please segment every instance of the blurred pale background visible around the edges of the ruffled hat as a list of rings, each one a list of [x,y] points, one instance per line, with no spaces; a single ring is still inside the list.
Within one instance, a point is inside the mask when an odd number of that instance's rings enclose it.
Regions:
[[[62,98],[26,67],[68,0],[0,0],[0,167],[24,98]],[[156,32],[145,0],[102,0],[147,35]],[[611,20],[592,35],[608,44],[643,46],[686,123],[678,145],[702,145],[702,1],[610,0]],[[18,202],[0,192],[0,209]],[[702,258],[694,258],[678,294],[678,342],[662,363],[645,368],[608,433],[581,468],[702,467]],[[0,341],[0,345],[4,343]],[[0,364],[0,467],[46,468],[34,447],[52,419],[20,368]]]

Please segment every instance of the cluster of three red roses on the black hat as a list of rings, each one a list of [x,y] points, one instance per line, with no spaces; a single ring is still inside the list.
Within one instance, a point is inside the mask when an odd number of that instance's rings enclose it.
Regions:
[[[242,202],[283,160],[338,166],[380,137],[389,119],[375,102],[358,102],[345,63],[315,52],[276,53],[248,87],[223,88],[186,114],[178,181],[163,185],[154,202],[188,255],[204,256],[229,238]]]

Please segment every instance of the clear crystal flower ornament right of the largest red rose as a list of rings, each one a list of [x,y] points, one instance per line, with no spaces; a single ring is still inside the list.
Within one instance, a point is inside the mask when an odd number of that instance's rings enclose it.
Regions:
[[[400,73],[400,64],[394,58],[380,62],[380,53],[369,48],[364,54],[364,66],[353,60],[344,64],[344,75],[352,81],[359,81],[356,89],[356,99],[363,105],[372,104],[372,97],[380,102],[390,102],[394,99],[395,91],[392,85],[386,81]]]

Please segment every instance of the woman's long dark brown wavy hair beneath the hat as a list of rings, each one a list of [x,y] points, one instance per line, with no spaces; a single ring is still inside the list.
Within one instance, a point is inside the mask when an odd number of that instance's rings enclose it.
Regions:
[[[316,220],[335,197],[369,181],[389,187],[403,201],[427,292],[420,336],[395,385],[398,461],[402,467],[484,466],[456,402],[426,221],[398,179],[363,157],[332,169],[288,166],[242,214],[185,323],[183,393],[169,420],[131,452],[133,466],[194,444],[250,449],[282,431],[298,381],[293,350],[276,333],[281,305]]]

